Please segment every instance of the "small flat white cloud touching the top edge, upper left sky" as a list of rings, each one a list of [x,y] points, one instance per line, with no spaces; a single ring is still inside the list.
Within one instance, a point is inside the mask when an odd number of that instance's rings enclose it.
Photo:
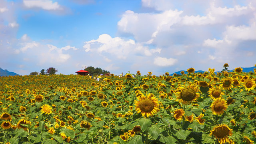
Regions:
[[[58,2],[52,0],[23,0],[24,6],[27,8],[42,8],[44,10],[61,10]]]

